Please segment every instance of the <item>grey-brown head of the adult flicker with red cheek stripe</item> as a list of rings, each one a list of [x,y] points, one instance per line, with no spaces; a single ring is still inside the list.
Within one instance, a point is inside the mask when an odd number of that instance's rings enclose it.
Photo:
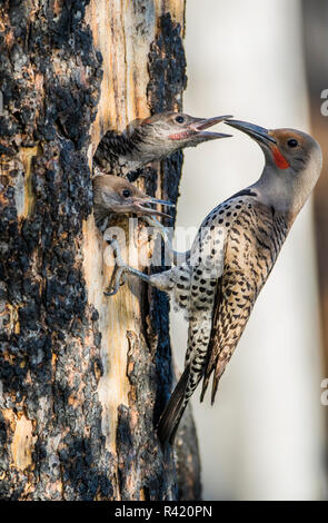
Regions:
[[[268,130],[237,120],[226,124],[249,135],[264,151],[266,166],[254,187],[277,210],[295,217],[320,176],[322,154],[319,144],[296,129]]]

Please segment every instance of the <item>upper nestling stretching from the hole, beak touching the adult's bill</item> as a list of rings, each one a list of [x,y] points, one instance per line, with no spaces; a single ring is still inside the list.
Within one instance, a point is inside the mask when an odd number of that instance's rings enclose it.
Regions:
[[[126,176],[185,147],[228,138],[230,135],[206,131],[227,118],[230,116],[193,118],[182,112],[160,112],[149,118],[138,118],[121,135],[108,131],[93,159],[107,174]]]

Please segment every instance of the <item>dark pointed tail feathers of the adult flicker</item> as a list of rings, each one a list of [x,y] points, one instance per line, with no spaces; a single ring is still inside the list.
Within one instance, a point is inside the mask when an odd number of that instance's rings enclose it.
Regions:
[[[166,447],[168,443],[171,445],[173,444],[180,420],[188,404],[188,401],[186,399],[186,388],[189,373],[190,367],[187,365],[179,382],[176,385],[175,391],[171,394],[167,406],[162,412],[162,415],[160,416],[157,433],[163,447]]]

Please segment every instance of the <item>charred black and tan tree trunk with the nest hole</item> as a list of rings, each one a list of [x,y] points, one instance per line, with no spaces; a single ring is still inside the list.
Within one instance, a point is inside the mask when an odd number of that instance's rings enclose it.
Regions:
[[[181,108],[183,16],[182,0],[0,3],[1,499],[200,496],[190,413],[176,456],[155,432],[172,381],[168,299],[139,282],[103,296],[91,189],[107,130]],[[138,185],[176,201],[181,164]]]

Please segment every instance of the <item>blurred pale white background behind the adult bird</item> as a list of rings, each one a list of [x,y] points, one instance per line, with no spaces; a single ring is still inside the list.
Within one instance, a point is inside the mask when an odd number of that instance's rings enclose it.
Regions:
[[[328,2],[188,0],[186,53],[186,112],[231,114],[268,128],[309,131],[326,157],[316,194],[257,300],[215,406],[208,396],[200,405],[195,394],[203,499],[325,500],[328,116],[321,114],[321,93],[328,89]],[[259,177],[259,147],[232,132],[231,139],[187,149],[178,227],[198,227],[218,203]],[[182,368],[187,324],[180,315],[172,314],[171,334]]]

